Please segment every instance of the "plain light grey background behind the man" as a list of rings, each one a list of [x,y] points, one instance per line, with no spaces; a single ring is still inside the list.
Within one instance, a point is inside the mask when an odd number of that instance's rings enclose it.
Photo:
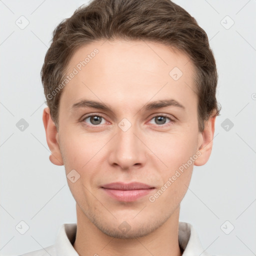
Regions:
[[[256,1],[175,2],[194,16],[208,34],[219,74],[217,98],[222,105],[212,154],[205,165],[194,167],[181,203],[180,221],[195,227],[203,247],[212,254],[255,255]],[[53,29],[83,3],[86,1],[0,0],[3,255],[49,246],[62,223],[76,222],[75,201],[64,166],[48,160],[40,69]],[[21,15],[29,21],[24,29],[15,24]],[[234,24],[229,27],[232,20]],[[29,125],[24,131],[16,127],[21,118]],[[221,126],[226,118],[234,124],[228,131],[222,127],[225,123]],[[21,220],[29,226],[24,234],[15,229]],[[229,222],[221,229],[226,220]],[[234,229],[225,234],[232,226]]]

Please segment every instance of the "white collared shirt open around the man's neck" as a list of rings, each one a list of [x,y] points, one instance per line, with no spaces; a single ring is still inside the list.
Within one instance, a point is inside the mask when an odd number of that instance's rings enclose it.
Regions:
[[[62,224],[58,230],[55,244],[20,256],[79,256],[72,246],[75,241],[75,234],[76,223]],[[178,243],[183,249],[182,256],[210,256],[202,248],[195,229],[189,223],[179,222]]]

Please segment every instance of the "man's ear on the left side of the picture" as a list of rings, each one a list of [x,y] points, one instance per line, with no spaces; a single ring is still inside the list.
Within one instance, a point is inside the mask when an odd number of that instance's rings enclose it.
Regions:
[[[51,119],[49,107],[43,109],[42,121],[46,133],[47,144],[51,151],[49,160],[55,165],[63,165],[59,149],[58,132],[55,123]]]

